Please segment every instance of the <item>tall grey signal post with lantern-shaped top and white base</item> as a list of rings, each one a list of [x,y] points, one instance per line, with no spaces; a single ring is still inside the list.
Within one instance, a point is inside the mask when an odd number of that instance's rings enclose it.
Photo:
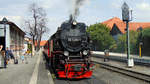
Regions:
[[[124,22],[126,22],[126,42],[127,42],[127,59],[128,59],[128,67],[134,66],[133,59],[130,57],[130,38],[129,38],[129,22],[130,20],[130,11],[129,6],[126,2],[122,5],[122,19]]]

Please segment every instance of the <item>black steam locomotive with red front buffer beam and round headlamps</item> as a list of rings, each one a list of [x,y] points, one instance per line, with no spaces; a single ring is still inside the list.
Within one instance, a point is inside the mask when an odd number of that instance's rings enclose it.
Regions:
[[[90,78],[90,38],[84,23],[69,20],[61,24],[44,46],[46,59],[59,78]]]

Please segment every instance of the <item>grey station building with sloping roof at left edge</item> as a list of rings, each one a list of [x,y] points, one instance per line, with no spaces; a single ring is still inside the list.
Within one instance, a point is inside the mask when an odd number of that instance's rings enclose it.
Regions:
[[[22,31],[15,23],[3,18],[0,21],[0,45],[5,50],[7,47],[13,51],[14,56],[20,56],[24,48],[25,32]]]

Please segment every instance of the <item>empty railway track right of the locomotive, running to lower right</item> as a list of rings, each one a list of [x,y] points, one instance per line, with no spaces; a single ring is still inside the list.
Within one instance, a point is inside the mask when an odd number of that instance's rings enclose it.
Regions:
[[[150,75],[135,72],[135,71],[131,71],[131,70],[127,70],[127,69],[123,69],[123,68],[116,67],[116,66],[109,65],[109,64],[105,64],[105,63],[102,63],[102,62],[96,62],[96,61],[93,61],[93,62],[96,63],[96,64],[100,64],[101,68],[111,70],[111,71],[114,71],[114,72],[117,72],[117,73],[121,73],[123,75],[127,75],[127,76],[130,76],[130,77],[142,80],[144,82],[150,83]]]

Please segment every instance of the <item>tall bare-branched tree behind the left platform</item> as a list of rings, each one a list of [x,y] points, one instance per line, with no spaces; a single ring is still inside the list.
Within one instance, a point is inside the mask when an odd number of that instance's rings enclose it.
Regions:
[[[32,52],[34,53],[35,44],[37,44],[36,49],[38,50],[42,35],[48,31],[47,18],[45,10],[36,3],[29,5],[29,13],[31,17],[25,23],[27,25],[26,30],[32,38]]]

